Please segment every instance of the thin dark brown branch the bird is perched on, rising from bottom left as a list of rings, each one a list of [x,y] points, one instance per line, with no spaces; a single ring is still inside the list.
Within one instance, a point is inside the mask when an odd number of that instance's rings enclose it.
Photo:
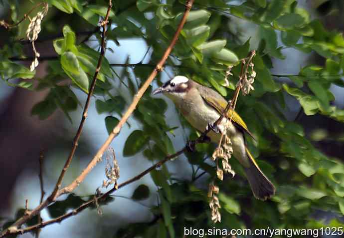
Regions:
[[[249,56],[248,56],[248,61],[247,61],[247,64],[245,64],[245,62],[242,63],[241,65],[241,73],[240,73],[240,78],[243,77],[244,74],[246,74],[247,72],[247,65],[248,63],[252,60],[253,56],[255,54],[255,51],[252,51],[250,52]],[[246,65],[246,68],[245,68],[245,65]],[[224,111],[222,112],[221,116],[216,120],[216,122],[214,123],[215,125],[217,125],[226,115],[227,111],[229,110],[229,108],[233,108],[233,111],[234,111],[234,107],[236,105],[236,100],[238,98],[238,95],[239,95],[239,92],[240,92],[240,84],[238,83],[238,85],[236,86],[236,89],[235,89],[235,92],[234,92],[234,95],[233,95],[233,99],[231,100],[231,103],[230,101],[228,102],[226,108],[224,109]],[[204,141],[204,138],[206,136],[206,134],[210,132],[210,129],[207,128],[195,141],[194,143],[195,144],[198,144],[198,143],[203,143],[205,142]],[[111,190],[109,190],[108,192],[106,192],[105,194],[102,194],[102,195],[99,195],[98,197],[94,197],[93,199],[90,199],[89,201],[85,202],[84,204],[82,204],[81,206],[79,206],[78,208],[74,209],[72,212],[69,212],[69,213],[66,213],[64,215],[61,215],[60,217],[57,217],[55,219],[52,219],[52,220],[49,220],[49,221],[46,221],[46,222],[42,222],[40,224],[37,224],[37,225],[34,225],[34,226],[31,226],[31,227],[27,227],[25,229],[19,229],[19,230],[14,230],[12,232],[7,232],[6,235],[17,235],[17,234],[24,234],[24,233],[27,233],[27,232],[31,232],[33,230],[36,230],[36,229],[40,229],[40,228],[43,228],[45,226],[48,226],[50,224],[54,224],[54,223],[60,223],[61,221],[69,218],[69,217],[72,217],[72,216],[75,216],[77,215],[78,213],[80,213],[81,211],[85,210],[86,208],[88,208],[89,206],[91,206],[95,200],[101,200],[101,199],[104,199],[106,198],[107,196],[110,196],[113,192],[117,191],[118,189],[121,189],[123,188],[124,186],[127,186],[135,181],[138,181],[140,180],[142,177],[144,177],[145,175],[147,175],[148,173],[150,173],[151,171],[153,171],[154,169],[156,168],[159,168],[160,166],[162,166],[163,164],[165,164],[166,162],[168,162],[169,160],[181,155],[182,153],[184,153],[186,151],[186,147],[184,147],[183,149],[179,150],[178,152],[172,154],[172,155],[169,155],[167,157],[165,157],[165,159],[157,162],[156,164],[154,164],[153,166],[149,167],[148,169],[146,169],[145,171],[143,171],[142,173],[140,173],[139,175],[119,184],[118,186],[114,186],[114,188],[112,188]],[[204,175],[205,172],[201,173],[199,176],[197,176],[197,179],[199,177],[201,177],[202,175]],[[194,181],[194,180],[193,180]],[[63,190],[62,190],[63,191]],[[0,236],[1,237],[1,236]]]

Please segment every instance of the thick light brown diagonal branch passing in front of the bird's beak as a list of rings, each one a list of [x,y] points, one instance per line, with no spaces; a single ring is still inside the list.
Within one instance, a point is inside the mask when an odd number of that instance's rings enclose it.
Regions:
[[[170,53],[172,51],[172,48],[173,48],[173,46],[175,45],[175,43],[176,43],[176,41],[178,39],[179,33],[180,33],[180,31],[181,31],[181,29],[182,29],[182,27],[183,27],[183,25],[184,25],[184,23],[186,21],[186,17],[187,17],[187,15],[188,15],[188,13],[189,13],[189,11],[191,9],[193,1],[194,0],[188,0],[186,2],[185,11],[184,11],[183,17],[182,17],[182,19],[181,19],[181,21],[180,21],[180,23],[178,25],[177,30],[174,33],[174,36],[173,36],[172,41],[171,41],[171,44],[166,49],[164,55],[162,56],[161,60],[159,61],[159,63],[155,67],[155,69],[152,71],[151,75],[148,77],[146,82],[142,85],[140,90],[134,96],[134,99],[133,99],[131,105],[129,106],[127,111],[124,113],[124,115],[121,118],[121,120],[115,126],[115,128],[113,129],[113,131],[111,132],[109,137],[106,139],[104,144],[100,147],[100,149],[98,150],[96,155],[93,157],[91,162],[87,165],[87,167],[81,172],[81,174],[70,185],[68,185],[65,188],[59,190],[59,192],[57,193],[57,196],[60,196],[60,195],[65,194],[65,193],[70,193],[71,191],[73,191],[85,179],[85,177],[93,169],[93,167],[100,161],[100,159],[102,158],[105,150],[108,148],[108,146],[110,145],[112,140],[120,133],[121,128],[126,123],[126,121],[131,116],[131,114],[134,112],[134,110],[135,110],[137,104],[139,103],[141,97],[143,96],[143,94],[145,93],[147,88],[150,86],[150,84],[154,80],[155,76],[158,74],[158,72],[160,72],[163,69],[165,61],[169,57],[169,55],[170,55]]]

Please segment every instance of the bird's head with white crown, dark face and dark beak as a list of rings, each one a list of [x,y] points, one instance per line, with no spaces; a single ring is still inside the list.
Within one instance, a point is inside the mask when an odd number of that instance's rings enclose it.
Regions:
[[[164,93],[169,97],[182,98],[189,90],[191,80],[185,76],[175,76],[163,84],[163,86],[153,91],[153,95]]]

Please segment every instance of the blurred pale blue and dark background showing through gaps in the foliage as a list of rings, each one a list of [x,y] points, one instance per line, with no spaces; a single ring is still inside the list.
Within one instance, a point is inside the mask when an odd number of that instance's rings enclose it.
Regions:
[[[22,6],[19,15],[27,12],[31,3],[29,1],[19,0]],[[232,4],[240,1],[233,1]],[[319,17],[327,29],[336,29],[343,32],[343,1],[336,0],[300,0],[299,6],[306,8],[311,12],[311,17]],[[9,5],[6,3],[0,5],[0,19],[7,18],[9,14]],[[149,17],[149,15],[147,15]],[[58,27],[51,25],[43,25],[45,28],[56,27],[56,32],[61,31],[61,26],[66,22],[73,22],[73,16],[63,14],[61,11],[49,10],[49,19],[56,19]],[[83,25],[74,22],[71,25],[73,30],[85,30]],[[237,17],[229,17],[225,26],[228,27],[233,34],[236,34],[241,42],[245,42],[251,38],[251,49],[258,47],[258,41],[255,41],[257,34],[257,25],[239,19]],[[25,28],[23,26],[23,28]],[[0,28],[0,45],[6,41],[6,37],[10,37],[8,32]],[[40,37],[45,37],[44,30]],[[78,37],[82,40],[87,35]],[[108,42],[108,47],[112,51],[107,50],[106,57],[110,63],[149,63],[152,50],[146,42],[140,38],[118,39],[119,45],[114,41]],[[87,44],[95,49],[98,47],[98,40],[95,36],[91,36]],[[2,46],[1,46],[2,47]],[[32,55],[31,46],[25,47],[27,55]],[[54,55],[54,49],[51,41],[37,42],[36,47],[42,56]],[[148,52],[148,53],[147,53]],[[310,62],[323,65],[324,58],[316,54],[303,53],[293,48],[283,49],[283,54],[287,57],[285,60],[273,60],[274,68],[272,73],[276,74],[298,74],[300,68]],[[128,58],[128,56],[130,56]],[[128,60],[128,61],[127,61]],[[30,61],[23,62],[29,66]],[[46,74],[46,63],[40,62],[36,69],[37,77],[43,78]],[[122,75],[124,70],[131,69],[125,67],[114,67],[118,75]],[[162,82],[165,82],[174,76],[174,71],[167,66],[166,69],[159,74]],[[289,79],[279,77],[274,78],[277,81],[288,81]],[[120,86],[119,94],[121,94]],[[157,87],[154,83],[153,88]],[[81,105],[86,100],[85,93],[78,89],[73,89],[77,95]],[[339,108],[344,107],[344,89],[338,86],[332,86],[331,91],[336,96],[334,105]],[[79,105],[77,110],[70,114],[72,122],[66,119],[64,114],[57,110],[45,120],[40,120],[37,116],[30,114],[30,111],[37,102],[41,101],[47,94],[47,90],[29,91],[23,88],[14,88],[0,81],[0,222],[13,218],[19,208],[23,208],[25,200],[28,200],[28,208],[34,208],[39,204],[40,188],[39,188],[39,153],[43,151],[43,181],[44,191],[49,194],[56,179],[63,167],[65,159],[68,156],[72,146],[72,140],[79,125],[82,107]],[[126,106],[131,102],[131,96],[123,93],[122,96],[126,100]],[[91,100],[88,118],[86,120],[84,131],[74,156],[70,169],[68,170],[64,185],[71,182],[87,165],[89,160],[95,154],[97,149],[103,144],[108,136],[104,118],[106,114],[98,114],[95,107],[95,100],[98,96],[94,96]],[[164,98],[164,97],[162,97]],[[176,150],[182,148],[187,140],[188,131],[183,130],[180,126],[179,117],[176,113],[174,105],[170,100],[164,98],[168,103],[166,112],[167,123],[171,127],[178,127],[174,131],[175,136],[171,136],[173,146]],[[316,148],[328,156],[336,157],[344,160],[344,127],[343,123],[337,122],[329,117],[315,115],[308,117],[303,113],[299,113],[300,105],[291,96],[286,95],[287,108],[286,117],[294,120],[296,117],[298,123],[304,128],[307,137],[312,138]],[[142,153],[133,157],[123,157],[122,150],[125,140],[131,131],[140,128],[140,124],[131,117],[129,124],[125,125],[120,135],[112,142],[111,146],[116,152],[116,159],[120,167],[119,183],[134,177],[146,168],[152,165],[151,161],[143,158]],[[324,138],[327,138],[324,140]],[[338,138],[342,138],[339,140]],[[167,163],[170,173],[175,178],[183,180],[191,179],[191,167],[186,162],[184,156],[180,156],[177,160]],[[185,166],[187,165],[187,166]],[[90,196],[95,194],[98,187],[101,187],[103,179],[105,179],[105,162],[101,162],[88,175],[84,183],[81,184],[74,192],[79,196]],[[204,188],[202,181],[206,180],[206,176],[198,182],[198,186]],[[139,184],[146,184],[151,191],[156,191],[156,186],[151,177],[146,175],[140,181],[137,181],[114,194],[115,201],[103,206],[103,216],[97,215],[96,210],[82,212],[78,216],[63,221],[61,224],[54,224],[44,228],[40,237],[42,238],[78,238],[78,237],[102,237],[105,234],[113,234],[114,227],[123,227],[126,224],[136,222],[151,221],[154,216],[150,208],[157,204],[157,193],[152,192],[150,198],[144,201],[133,201],[130,197]],[[206,186],[205,186],[206,187]],[[101,189],[102,192],[106,191]],[[63,198],[61,198],[63,199]],[[42,212],[43,220],[48,220],[48,214]],[[94,223],[88,220],[92,217]],[[78,229],[75,229],[78,228]],[[25,234],[22,237],[31,237],[31,234]]]

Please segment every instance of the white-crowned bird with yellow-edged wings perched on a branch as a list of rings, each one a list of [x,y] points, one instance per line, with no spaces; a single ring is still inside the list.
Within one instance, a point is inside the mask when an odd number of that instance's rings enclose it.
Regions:
[[[175,76],[152,92],[153,95],[160,93],[170,98],[190,125],[200,132],[205,131],[207,126],[214,128],[214,122],[227,106],[227,101],[217,91],[182,75]],[[254,197],[263,201],[270,199],[275,195],[275,186],[259,168],[245,142],[244,134],[252,136],[252,133],[239,114],[229,109],[226,118],[231,116],[231,121],[224,118],[218,128],[226,128],[233,155],[244,167]],[[207,136],[211,142],[219,143],[221,134],[211,130]]]

